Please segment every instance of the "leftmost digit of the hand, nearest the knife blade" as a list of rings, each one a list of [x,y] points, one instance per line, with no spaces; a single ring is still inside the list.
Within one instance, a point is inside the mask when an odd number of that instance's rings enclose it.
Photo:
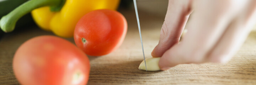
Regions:
[[[178,43],[191,13],[190,3],[190,0],[169,0],[159,44],[151,53],[153,57],[161,57],[166,50]]]

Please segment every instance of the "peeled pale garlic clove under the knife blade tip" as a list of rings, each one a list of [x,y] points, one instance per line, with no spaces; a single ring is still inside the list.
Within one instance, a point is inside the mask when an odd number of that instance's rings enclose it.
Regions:
[[[148,71],[156,71],[160,70],[158,66],[158,62],[160,60],[160,57],[152,57],[152,58],[146,58],[146,66]],[[140,70],[146,70],[145,62],[142,61],[139,66]]]

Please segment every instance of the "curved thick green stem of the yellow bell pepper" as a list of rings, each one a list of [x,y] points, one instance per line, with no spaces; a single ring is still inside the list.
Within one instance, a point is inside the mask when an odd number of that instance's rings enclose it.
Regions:
[[[8,15],[3,16],[0,20],[0,27],[6,33],[12,32],[18,19],[32,10],[43,6],[51,6],[51,11],[59,11],[64,3],[65,0],[29,0],[15,8]]]

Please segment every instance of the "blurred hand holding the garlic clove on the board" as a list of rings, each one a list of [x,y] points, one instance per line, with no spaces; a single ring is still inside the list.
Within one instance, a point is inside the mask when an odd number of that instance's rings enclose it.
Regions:
[[[256,0],[169,0],[159,44],[151,55],[161,57],[161,70],[178,64],[225,63],[255,24]],[[184,28],[187,34],[179,42]]]

